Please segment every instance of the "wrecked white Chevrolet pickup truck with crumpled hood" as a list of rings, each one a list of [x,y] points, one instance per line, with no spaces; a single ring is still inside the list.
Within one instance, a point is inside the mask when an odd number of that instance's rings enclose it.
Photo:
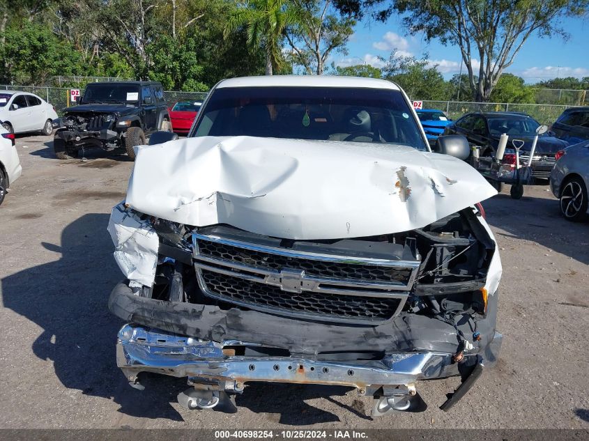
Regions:
[[[187,377],[186,408],[235,410],[248,382],[343,385],[383,415],[461,376],[448,410],[496,362],[501,264],[479,204],[496,191],[466,139],[429,151],[398,86],[229,79],[187,139],[156,135],[172,140],[139,146],[109,222],[132,386]]]

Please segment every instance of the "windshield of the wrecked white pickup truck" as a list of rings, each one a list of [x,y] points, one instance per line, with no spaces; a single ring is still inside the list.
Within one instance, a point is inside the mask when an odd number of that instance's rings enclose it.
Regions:
[[[349,87],[217,88],[203,112],[192,136],[360,141],[428,150],[400,91]]]

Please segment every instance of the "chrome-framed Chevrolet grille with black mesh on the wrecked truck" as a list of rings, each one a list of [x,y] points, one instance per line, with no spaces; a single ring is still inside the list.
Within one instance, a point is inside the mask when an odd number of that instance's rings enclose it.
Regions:
[[[217,300],[288,316],[352,323],[401,311],[419,261],[357,258],[192,235],[201,290]]]

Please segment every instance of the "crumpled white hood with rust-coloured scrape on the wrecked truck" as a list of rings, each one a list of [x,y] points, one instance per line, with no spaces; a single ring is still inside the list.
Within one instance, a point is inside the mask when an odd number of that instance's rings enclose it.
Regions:
[[[278,238],[408,231],[496,194],[470,165],[406,146],[199,137],[138,149],[126,203]]]

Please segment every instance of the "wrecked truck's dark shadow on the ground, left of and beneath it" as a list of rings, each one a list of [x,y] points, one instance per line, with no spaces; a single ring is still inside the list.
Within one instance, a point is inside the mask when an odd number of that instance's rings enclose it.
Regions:
[[[116,334],[123,323],[110,313],[107,302],[122,274],[112,258],[108,219],[106,214],[83,215],[63,229],[61,247],[43,243],[46,249],[61,253],[61,258],[2,279],[3,307],[43,328],[33,353],[52,360],[63,386],[112,399],[125,415],[183,421],[170,403],[176,403],[177,394],[188,388],[184,378],[144,374],[145,390],[139,391],[128,385],[116,367]],[[347,390],[254,383],[236,401],[252,412],[280,413],[282,424],[315,424],[339,418],[304,400],[343,395]],[[330,401],[367,418],[362,409]]]

